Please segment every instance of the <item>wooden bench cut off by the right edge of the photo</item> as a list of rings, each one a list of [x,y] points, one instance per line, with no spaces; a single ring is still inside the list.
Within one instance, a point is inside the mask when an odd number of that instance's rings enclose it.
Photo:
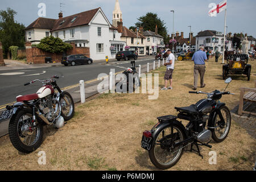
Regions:
[[[254,89],[243,87],[243,88],[240,88],[240,90],[241,90],[241,93],[240,93],[240,103],[239,103],[238,114],[242,115],[243,113],[245,113],[245,114],[256,115],[256,113],[243,111],[243,102],[244,101],[256,102],[256,80],[255,80],[255,88]]]

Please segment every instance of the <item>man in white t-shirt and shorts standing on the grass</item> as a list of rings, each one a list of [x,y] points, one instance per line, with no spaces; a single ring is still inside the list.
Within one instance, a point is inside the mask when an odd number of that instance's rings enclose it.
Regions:
[[[175,56],[171,52],[171,49],[167,49],[167,63],[164,63],[164,65],[167,67],[166,74],[164,75],[164,88],[161,90],[172,90],[172,73],[174,72],[174,63],[175,63]],[[170,86],[167,88],[168,81],[170,81]]]

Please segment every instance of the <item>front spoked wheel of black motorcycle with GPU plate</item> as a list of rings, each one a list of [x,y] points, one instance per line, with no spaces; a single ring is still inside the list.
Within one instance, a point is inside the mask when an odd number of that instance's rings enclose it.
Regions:
[[[231,114],[228,107],[222,106],[220,110],[225,123],[222,123],[220,116],[217,115],[214,122],[214,127],[216,128],[212,129],[212,138],[215,142],[218,143],[223,142],[226,139],[226,137],[228,137],[231,126]]]

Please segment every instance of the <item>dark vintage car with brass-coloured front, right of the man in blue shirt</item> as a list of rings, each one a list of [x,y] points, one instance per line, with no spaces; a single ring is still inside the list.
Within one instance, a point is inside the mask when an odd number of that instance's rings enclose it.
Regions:
[[[246,75],[250,81],[251,65],[248,64],[249,57],[246,54],[225,55],[227,64],[222,67],[223,80],[228,75]]]

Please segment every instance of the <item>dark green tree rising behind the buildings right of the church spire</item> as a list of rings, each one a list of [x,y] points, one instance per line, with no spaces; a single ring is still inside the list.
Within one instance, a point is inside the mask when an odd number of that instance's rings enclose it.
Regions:
[[[156,13],[147,13],[144,16],[137,18],[139,22],[135,23],[135,27],[143,27],[144,31],[155,31],[155,26],[158,26],[158,34],[164,37],[164,42],[168,43],[167,27]]]

